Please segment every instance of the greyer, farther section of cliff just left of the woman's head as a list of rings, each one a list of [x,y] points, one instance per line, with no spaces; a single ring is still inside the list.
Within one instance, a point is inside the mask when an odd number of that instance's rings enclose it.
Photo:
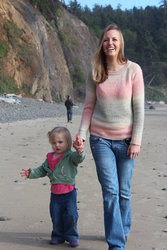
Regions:
[[[91,69],[92,55],[97,47],[97,38],[77,17],[62,9],[57,18],[59,36],[65,59],[72,76],[75,96],[82,98],[85,82]]]

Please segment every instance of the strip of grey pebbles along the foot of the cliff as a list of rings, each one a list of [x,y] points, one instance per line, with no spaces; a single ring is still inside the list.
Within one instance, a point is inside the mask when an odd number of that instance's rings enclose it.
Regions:
[[[48,103],[24,97],[17,97],[17,100],[19,102],[16,103],[0,100],[0,123],[66,116],[64,103]],[[81,110],[81,104],[74,106],[75,115],[80,115]]]

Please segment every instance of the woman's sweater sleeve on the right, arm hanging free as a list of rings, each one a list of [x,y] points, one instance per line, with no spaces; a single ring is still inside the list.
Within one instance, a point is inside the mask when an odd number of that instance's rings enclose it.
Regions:
[[[132,85],[133,129],[132,144],[141,145],[144,126],[144,80],[142,70],[135,64]]]

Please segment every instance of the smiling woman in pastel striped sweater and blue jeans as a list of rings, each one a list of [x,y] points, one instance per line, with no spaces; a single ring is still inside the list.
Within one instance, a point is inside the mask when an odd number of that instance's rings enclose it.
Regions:
[[[83,140],[90,132],[109,250],[125,250],[131,229],[131,178],[143,123],[142,70],[125,58],[122,32],[111,24],[104,30],[92,62],[79,129]]]

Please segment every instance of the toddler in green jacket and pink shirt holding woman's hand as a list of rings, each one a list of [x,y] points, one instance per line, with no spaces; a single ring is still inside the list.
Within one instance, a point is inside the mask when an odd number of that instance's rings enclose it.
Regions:
[[[77,192],[75,176],[77,166],[85,158],[82,140],[76,136],[77,151],[71,151],[72,139],[65,127],[55,127],[48,132],[53,152],[48,153],[44,163],[33,169],[22,169],[21,176],[35,179],[48,176],[51,182],[50,215],[53,223],[51,244],[68,241],[71,247],[79,245],[77,229]]]

